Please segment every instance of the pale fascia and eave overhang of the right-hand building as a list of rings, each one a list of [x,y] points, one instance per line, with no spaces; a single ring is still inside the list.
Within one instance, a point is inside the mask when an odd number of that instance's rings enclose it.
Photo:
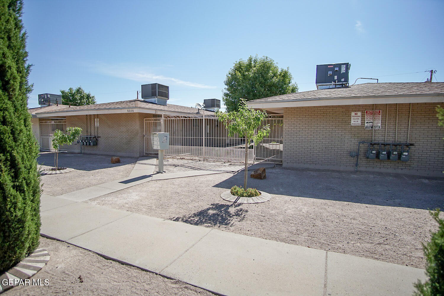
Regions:
[[[339,106],[396,103],[444,103],[444,94],[431,95],[383,95],[346,98],[290,99],[272,101],[250,101],[247,106],[283,114],[285,108],[312,106]]]

